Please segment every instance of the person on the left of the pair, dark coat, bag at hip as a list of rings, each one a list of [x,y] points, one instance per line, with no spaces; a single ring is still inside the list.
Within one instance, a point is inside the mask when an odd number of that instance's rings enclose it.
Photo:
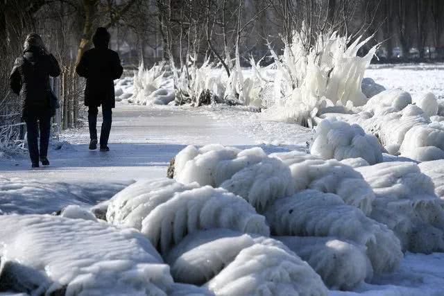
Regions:
[[[26,122],[29,156],[32,167],[48,166],[48,145],[51,132],[51,90],[49,76],[60,75],[59,64],[44,46],[42,37],[31,33],[24,42],[23,55],[15,60],[10,74],[12,92],[19,95],[23,105],[22,118]],[[40,151],[37,138],[40,131]]]

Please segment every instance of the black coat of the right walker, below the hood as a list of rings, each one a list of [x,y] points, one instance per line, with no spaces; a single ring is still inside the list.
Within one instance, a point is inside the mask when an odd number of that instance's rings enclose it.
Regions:
[[[114,79],[123,73],[119,55],[108,49],[108,42],[94,42],[94,49],[83,53],[76,67],[79,76],[86,78],[85,105],[115,107]]]

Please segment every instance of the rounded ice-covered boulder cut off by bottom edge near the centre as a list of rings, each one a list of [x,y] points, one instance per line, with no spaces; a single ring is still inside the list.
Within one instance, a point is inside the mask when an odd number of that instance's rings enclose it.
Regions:
[[[216,295],[327,295],[321,277],[280,247],[255,244],[242,250],[206,285]]]

